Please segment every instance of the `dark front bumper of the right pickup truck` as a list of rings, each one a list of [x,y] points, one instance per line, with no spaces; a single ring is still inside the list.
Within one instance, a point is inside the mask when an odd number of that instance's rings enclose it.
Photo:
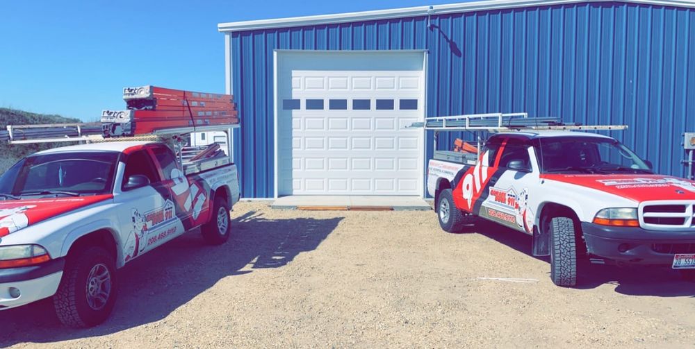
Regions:
[[[676,253],[695,253],[695,230],[660,232],[582,223],[582,232],[590,255],[614,262],[671,266]]]

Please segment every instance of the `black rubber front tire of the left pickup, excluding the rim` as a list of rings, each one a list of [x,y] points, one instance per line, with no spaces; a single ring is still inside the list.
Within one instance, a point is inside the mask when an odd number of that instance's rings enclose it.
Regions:
[[[116,300],[115,260],[111,253],[98,246],[91,246],[68,255],[63,278],[53,296],[58,319],[70,327],[92,327],[103,323],[113,310]],[[110,292],[100,309],[92,309],[88,303],[90,272],[98,265],[108,269]]]

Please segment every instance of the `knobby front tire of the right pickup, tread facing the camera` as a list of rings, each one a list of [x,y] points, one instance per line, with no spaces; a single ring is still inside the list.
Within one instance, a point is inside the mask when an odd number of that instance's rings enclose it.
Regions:
[[[569,217],[550,220],[550,279],[562,287],[577,284],[577,241]]]

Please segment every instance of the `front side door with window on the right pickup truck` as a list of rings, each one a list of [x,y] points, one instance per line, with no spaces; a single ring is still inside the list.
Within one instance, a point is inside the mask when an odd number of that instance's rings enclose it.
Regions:
[[[532,155],[528,138],[506,139],[498,164],[500,176],[489,186],[480,216],[515,230],[532,232],[535,212],[528,199],[534,194],[530,189],[539,183],[539,170]]]

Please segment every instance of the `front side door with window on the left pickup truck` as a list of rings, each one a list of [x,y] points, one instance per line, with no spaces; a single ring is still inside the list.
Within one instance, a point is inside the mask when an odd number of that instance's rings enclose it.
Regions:
[[[124,244],[125,262],[142,255],[167,239],[183,232],[174,218],[171,192],[165,187],[148,148],[127,153],[120,193],[114,201],[120,205],[119,221]],[[129,189],[132,176],[149,179],[149,185]]]

